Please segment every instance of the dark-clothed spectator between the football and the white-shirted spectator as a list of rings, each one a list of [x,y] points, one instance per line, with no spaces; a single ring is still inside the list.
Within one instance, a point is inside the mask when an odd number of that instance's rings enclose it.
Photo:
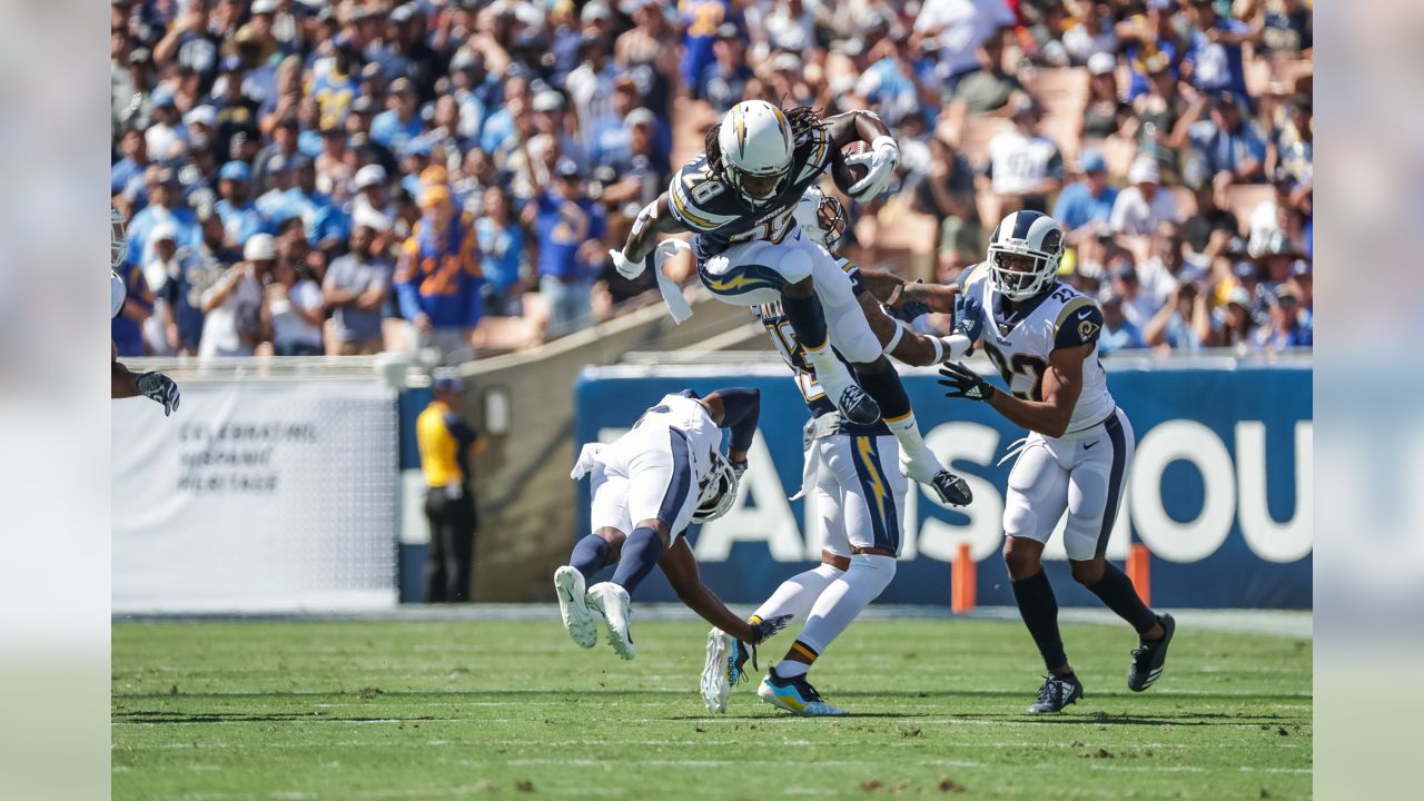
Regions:
[[[984,225],[974,202],[974,168],[943,137],[930,140],[926,172],[914,182],[920,211],[938,221],[941,271],[957,271],[978,261],[984,249]]]

